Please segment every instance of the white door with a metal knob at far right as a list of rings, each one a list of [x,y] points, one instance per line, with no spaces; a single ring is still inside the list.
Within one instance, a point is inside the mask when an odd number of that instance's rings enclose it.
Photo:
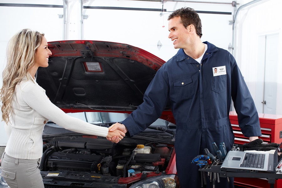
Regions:
[[[276,113],[278,40],[278,34],[265,36],[264,93],[261,102],[266,114]]]

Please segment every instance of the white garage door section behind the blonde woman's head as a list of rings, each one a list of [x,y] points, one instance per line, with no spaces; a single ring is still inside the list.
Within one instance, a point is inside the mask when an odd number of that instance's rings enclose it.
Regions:
[[[40,3],[39,3],[40,2]],[[0,3],[30,3],[63,5],[63,1],[24,1],[0,0]],[[6,65],[6,47],[8,40],[20,29],[29,28],[38,30],[46,35],[47,40],[62,40],[63,8],[30,8],[30,7],[4,7],[0,6],[0,87],[2,87],[2,72]],[[0,113],[1,114],[1,113]],[[2,115],[1,115],[2,117]],[[2,119],[2,118],[1,118]],[[4,122],[0,122],[0,146],[7,144],[4,131]]]

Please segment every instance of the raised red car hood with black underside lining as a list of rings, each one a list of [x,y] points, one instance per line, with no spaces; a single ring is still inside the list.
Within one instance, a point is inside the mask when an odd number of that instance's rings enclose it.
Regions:
[[[65,112],[133,111],[165,63],[145,50],[114,42],[56,41],[48,48],[49,66],[39,67],[36,80]]]

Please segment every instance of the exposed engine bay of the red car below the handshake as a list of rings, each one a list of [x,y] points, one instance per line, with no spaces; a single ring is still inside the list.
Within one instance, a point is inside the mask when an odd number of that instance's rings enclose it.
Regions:
[[[48,137],[44,138],[39,169],[43,179],[50,178],[47,176],[55,172],[82,172],[78,176],[89,173],[93,176],[94,173],[106,179],[108,176],[111,181],[129,183],[140,180],[143,174],[165,173],[173,151],[171,144],[148,139],[125,137],[116,144],[106,138],[88,135]],[[59,177],[57,175],[57,179]]]

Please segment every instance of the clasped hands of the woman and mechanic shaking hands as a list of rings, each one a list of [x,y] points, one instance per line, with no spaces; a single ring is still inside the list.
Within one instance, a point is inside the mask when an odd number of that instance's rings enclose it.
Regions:
[[[111,142],[118,143],[123,139],[127,131],[127,128],[123,124],[115,123],[109,127],[109,132],[106,138]]]

